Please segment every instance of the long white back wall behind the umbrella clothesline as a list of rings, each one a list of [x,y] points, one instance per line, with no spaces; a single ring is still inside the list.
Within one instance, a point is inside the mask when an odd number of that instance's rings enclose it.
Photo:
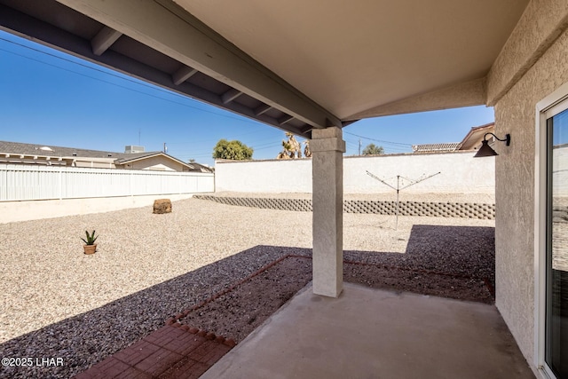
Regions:
[[[493,196],[494,158],[474,153],[400,154],[344,157],[344,193],[394,193],[390,186],[438,175],[404,189],[405,193],[485,193]],[[217,162],[216,191],[243,193],[312,193],[312,160]]]

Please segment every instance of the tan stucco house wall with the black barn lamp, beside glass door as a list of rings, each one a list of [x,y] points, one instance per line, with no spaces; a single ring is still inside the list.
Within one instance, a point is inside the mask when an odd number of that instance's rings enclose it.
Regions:
[[[534,349],[534,162],[536,104],[568,82],[568,33],[553,43],[495,104],[496,305],[526,359]],[[534,367],[533,367],[534,368]]]

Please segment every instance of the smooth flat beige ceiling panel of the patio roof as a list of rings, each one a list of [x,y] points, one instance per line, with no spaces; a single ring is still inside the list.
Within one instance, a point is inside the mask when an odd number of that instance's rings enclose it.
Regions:
[[[485,77],[528,4],[175,1],[343,120]]]

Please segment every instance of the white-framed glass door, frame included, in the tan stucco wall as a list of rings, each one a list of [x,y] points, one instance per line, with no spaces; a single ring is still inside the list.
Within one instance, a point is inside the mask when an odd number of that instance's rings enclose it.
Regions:
[[[536,107],[535,363],[568,379],[568,83]]]

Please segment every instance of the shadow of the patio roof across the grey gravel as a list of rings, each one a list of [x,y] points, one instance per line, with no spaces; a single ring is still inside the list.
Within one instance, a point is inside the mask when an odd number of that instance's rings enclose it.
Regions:
[[[0,367],[0,377],[67,378],[76,375],[161,328],[164,321],[177,312],[209,299],[265,265],[288,255],[311,257],[312,249],[259,245],[90,312],[15,337],[0,344],[1,358],[29,357],[34,362],[36,358],[61,358],[63,365]],[[417,270],[423,270],[449,275],[467,274],[472,278],[490,277],[494,280],[494,229],[415,225],[406,254],[347,250],[344,259],[351,262],[345,267],[394,267],[403,272],[412,272],[413,278]],[[54,301],[57,301],[56,297]]]

